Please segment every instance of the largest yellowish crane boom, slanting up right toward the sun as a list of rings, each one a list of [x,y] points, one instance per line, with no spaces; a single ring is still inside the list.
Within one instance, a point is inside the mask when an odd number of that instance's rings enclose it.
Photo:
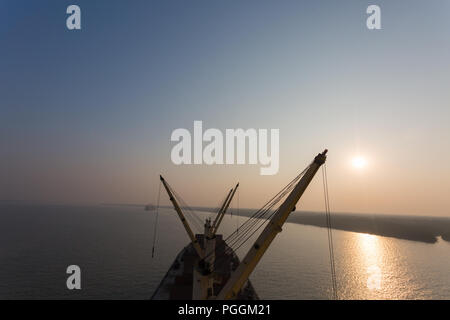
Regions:
[[[281,232],[284,222],[288,218],[289,214],[294,210],[295,205],[305,192],[311,180],[314,178],[314,175],[319,170],[320,166],[325,163],[327,151],[328,150],[325,150],[314,158],[313,163],[309,166],[303,177],[278,208],[277,212],[261,232],[260,236],[250,248],[237,269],[231,274],[230,279],[217,295],[217,300],[236,299],[237,294],[244,286],[258,262],[261,260],[267,248],[269,248],[273,239],[275,239],[276,235]]]

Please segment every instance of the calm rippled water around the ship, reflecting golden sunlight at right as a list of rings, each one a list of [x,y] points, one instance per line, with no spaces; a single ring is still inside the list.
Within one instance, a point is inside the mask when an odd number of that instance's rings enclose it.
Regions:
[[[0,206],[0,298],[148,299],[188,238],[172,210]],[[206,213],[198,213],[206,217]],[[227,216],[224,234],[244,217]],[[345,299],[450,299],[450,243],[425,244],[333,231],[338,294]],[[245,248],[237,252],[242,257]],[[82,290],[66,289],[79,265]],[[288,223],[251,279],[263,299],[328,299],[325,229]]]

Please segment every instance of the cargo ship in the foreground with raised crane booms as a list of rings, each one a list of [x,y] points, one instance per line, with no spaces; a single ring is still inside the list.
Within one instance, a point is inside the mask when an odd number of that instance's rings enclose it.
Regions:
[[[175,258],[171,267],[156,288],[154,300],[258,300],[259,297],[249,276],[269,248],[276,235],[315,176],[326,161],[327,150],[319,153],[313,162],[283,190],[273,197],[262,209],[255,212],[240,228],[227,239],[217,234],[222,219],[236,193],[239,184],[228,192],[214,221],[205,220],[204,233],[192,232],[173,189],[160,176],[191,242]],[[284,201],[276,210],[272,207]],[[266,218],[267,220],[263,220]],[[233,248],[249,240],[264,226],[257,240],[250,247],[242,261]]]

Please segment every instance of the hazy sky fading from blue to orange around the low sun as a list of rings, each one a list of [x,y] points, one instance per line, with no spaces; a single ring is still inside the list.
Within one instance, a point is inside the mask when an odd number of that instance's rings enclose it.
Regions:
[[[450,216],[446,0],[0,0],[0,44],[0,200],[155,203],[163,174],[259,208],[327,148],[332,211]],[[173,164],[195,120],[279,129],[278,173]],[[321,179],[298,209],[324,209]]]

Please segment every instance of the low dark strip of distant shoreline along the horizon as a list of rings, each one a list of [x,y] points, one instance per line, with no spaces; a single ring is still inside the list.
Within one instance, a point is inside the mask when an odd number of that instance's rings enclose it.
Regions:
[[[167,207],[171,208],[171,207]],[[193,210],[217,212],[217,208],[192,207]],[[255,209],[233,210],[249,217]],[[229,213],[228,213],[229,214]],[[326,228],[325,213],[295,211],[287,222]],[[435,243],[438,237],[450,242],[450,218],[387,214],[332,213],[331,227],[337,230],[368,233],[383,237]]]

